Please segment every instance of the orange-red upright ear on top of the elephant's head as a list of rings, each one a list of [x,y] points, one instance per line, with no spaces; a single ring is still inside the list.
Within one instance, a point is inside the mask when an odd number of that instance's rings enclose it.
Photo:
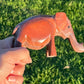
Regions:
[[[58,12],[55,15],[56,20],[56,26],[59,31],[65,30],[68,22],[67,22],[67,16],[64,12]]]

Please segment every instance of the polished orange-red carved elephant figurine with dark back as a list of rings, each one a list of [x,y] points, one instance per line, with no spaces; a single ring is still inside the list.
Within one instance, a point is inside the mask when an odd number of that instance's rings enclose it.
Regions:
[[[47,57],[57,56],[55,36],[68,38],[76,52],[84,52],[83,43],[77,42],[70,20],[64,12],[58,12],[54,16],[30,17],[15,27],[13,35],[14,47],[39,50],[47,46]]]

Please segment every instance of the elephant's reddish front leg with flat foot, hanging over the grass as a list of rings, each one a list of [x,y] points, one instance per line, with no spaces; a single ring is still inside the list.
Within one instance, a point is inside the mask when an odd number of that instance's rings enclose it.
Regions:
[[[55,48],[55,41],[54,41],[54,36],[51,38],[51,41],[47,45],[47,57],[56,57],[56,48]]]

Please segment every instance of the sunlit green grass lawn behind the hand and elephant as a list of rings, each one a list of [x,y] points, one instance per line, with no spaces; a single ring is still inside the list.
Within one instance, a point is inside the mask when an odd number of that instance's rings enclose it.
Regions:
[[[34,15],[65,12],[79,43],[84,42],[84,0],[0,0],[0,39],[12,35],[14,27]],[[30,50],[24,84],[84,84],[84,53],[76,53],[68,39],[55,38],[58,56],[46,58],[46,47]],[[69,69],[63,69],[69,65]]]

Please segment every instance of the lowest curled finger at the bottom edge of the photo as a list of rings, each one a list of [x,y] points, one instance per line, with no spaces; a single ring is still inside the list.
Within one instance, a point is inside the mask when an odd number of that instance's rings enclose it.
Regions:
[[[9,84],[22,84],[23,77],[22,76],[9,76],[7,78]]]

